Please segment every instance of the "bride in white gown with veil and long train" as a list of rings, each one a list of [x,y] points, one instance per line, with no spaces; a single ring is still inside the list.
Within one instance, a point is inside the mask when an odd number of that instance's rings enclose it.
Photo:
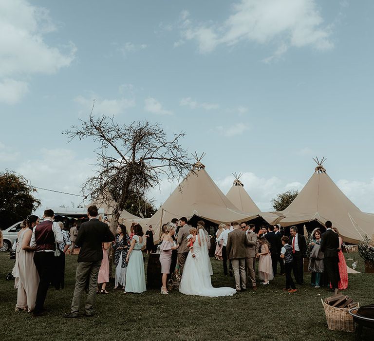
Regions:
[[[213,288],[210,276],[213,275],[212,265],[206,246],[207,237],[204,222],[199,221],[197,230],[192,227],[190,250],[183,268],[179,291],[185,295],[198,295],[207,297],[232,296],[236,290],[229,287]]]

